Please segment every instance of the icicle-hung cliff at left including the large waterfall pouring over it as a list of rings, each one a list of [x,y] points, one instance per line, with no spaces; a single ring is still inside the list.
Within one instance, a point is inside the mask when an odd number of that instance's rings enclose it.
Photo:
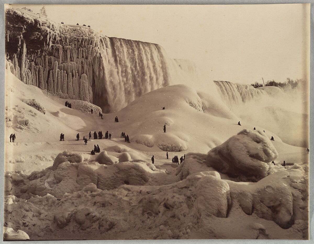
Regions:
[[[196,77],[195,66],[168,58],[158,44],[102,36],[13,6],[5,11],[5,37],[7,65],[25,84],[103,112]]]

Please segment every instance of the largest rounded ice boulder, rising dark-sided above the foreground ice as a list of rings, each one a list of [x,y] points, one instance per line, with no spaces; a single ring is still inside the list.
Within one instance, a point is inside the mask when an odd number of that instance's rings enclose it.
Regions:
[[[268,163],[277,156],[269,138],[258,131],[244,129],[210,150],[206,164],[230,177],[245,176],[257,181],[268,175]]]

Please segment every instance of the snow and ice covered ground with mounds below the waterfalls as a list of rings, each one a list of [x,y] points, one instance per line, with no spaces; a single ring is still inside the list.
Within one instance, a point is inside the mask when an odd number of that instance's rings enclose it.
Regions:
[[[280,126],[288,112],[267,107],[269,130],[206,91],[175,85],[101,119],[88,102],[71,100],[70,109],[9,70],[5,78],[6,238],[308,238],[308,154],[281,132],[308,115],[289,113]],[[94,131],[111,140],[85,145]],[[90,154],[94,145],[101,153]],[[171,162],[184,154],[181,165]]]

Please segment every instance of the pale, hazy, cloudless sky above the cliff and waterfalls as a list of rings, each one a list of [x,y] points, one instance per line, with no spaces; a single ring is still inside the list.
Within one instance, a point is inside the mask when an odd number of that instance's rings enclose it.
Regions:
[[[27,6],[39,13],[42,5]],[[48,18],[160,44],[208,80],[307,78],[310,5],[45,5]]]

